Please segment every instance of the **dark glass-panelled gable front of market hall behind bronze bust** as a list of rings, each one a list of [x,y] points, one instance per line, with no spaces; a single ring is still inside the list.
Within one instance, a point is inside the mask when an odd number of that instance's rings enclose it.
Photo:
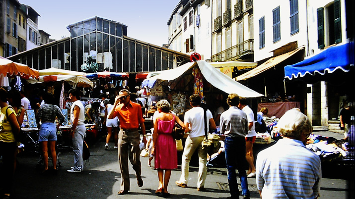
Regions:
[[[189,56],[127,37],[127,25],[93,17],[67,27],[71,36],[8,57],[42,70],[51,67],[81,71],[88,55],[98,72],[152,72],[175,68]]]

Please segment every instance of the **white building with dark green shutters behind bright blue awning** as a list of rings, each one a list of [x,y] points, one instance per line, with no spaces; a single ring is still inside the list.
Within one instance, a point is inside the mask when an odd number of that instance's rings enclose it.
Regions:
[[[307,6],[309,51],[306,59],[336,45],[354,41],[354,8],[350,0],[309,0]],[[353,31],[353,32],[352,32]],[[346,80],[350,83],[350,80]],[[328,126],[328,121],[338,118],[343,99],[353,96],[348,83],[308,84],[307,113],[317,125]],[[354,100],[354,99],[352,99]]]

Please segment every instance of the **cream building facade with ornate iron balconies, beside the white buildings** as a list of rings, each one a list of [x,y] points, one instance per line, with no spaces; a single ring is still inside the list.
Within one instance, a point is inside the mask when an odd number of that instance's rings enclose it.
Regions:
[[[212,61],[254,61],[253,0],[211,0]]]

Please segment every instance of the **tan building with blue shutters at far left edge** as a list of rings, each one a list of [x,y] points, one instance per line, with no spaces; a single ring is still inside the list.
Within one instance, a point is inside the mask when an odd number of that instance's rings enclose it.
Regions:
[[[26,50],[27,12],[18,0],[0,0],[0,55]]]

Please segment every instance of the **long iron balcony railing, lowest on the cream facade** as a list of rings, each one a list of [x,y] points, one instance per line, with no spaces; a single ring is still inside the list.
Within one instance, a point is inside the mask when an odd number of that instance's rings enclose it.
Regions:
[[[241,44],[237,44],[231,48],[213,54],[211,60],[215,61],[229,61],[239,58],[240,56],[254,52],[254,40],[246,40]]]

